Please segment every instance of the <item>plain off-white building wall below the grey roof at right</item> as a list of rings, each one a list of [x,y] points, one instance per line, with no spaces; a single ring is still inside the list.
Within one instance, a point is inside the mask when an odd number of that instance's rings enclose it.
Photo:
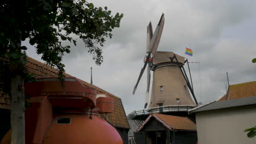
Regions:
[[[244,132],[255,125],[255,105],[196,113],[199,144],[255,144]]]

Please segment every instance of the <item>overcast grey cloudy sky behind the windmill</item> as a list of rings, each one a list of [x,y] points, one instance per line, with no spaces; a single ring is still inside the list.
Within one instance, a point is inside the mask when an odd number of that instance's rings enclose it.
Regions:
[[[149,21],[153,31],[162,13],[165,26],[158,51],[172,51],[190,62],[197,101],[207,103],[225,94],[226,71],[230,85],[256,80],[256,1],[91,1],[98,7],[107,6],[113,13],[123,13],[120,28],[104,44],[104,62],[97,66],[79,41],[65,56],[66,73],[90,82],[93,68],[94,85],[117,95],[123,101],[126,114],[143,109],[146,74],[135,95],[133,87],[146,56],[146,33]],[[43,62],[27,41],[27,55]],[[193,56],[184,54],[185,46]],[[153,73],[153,72],[152,72]],[[201,94],[200,79],[201,74]],[[201,95],[201,96],[200,96]]]

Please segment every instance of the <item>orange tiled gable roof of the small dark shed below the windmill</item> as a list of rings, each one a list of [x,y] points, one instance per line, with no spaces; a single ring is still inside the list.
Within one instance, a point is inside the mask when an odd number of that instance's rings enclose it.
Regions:
[[[162,123],[167,129],[170,130],[196,131],[196,124],[190,121],[189,118],[164,115],[160,113],[151,113],[137,131],[140,131],[152,117],[154,117],[157,121]]]

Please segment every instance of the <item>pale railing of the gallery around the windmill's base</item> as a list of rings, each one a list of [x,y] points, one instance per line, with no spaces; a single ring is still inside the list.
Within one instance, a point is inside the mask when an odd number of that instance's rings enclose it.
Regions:
[[[135,118],[136,116],[149,115],[150,113],[164,113],[164,112],[188,112],[190,109],[193,109],[198,105],[167,105],[152,107],[149,109],[134,110],[129,114],[129,118]]]

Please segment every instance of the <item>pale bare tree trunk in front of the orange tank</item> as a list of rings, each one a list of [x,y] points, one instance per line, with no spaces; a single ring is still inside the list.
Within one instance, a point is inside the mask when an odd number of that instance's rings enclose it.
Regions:
[[[25,95],[21,75],[11,79],[11,144],[25,144]]]

